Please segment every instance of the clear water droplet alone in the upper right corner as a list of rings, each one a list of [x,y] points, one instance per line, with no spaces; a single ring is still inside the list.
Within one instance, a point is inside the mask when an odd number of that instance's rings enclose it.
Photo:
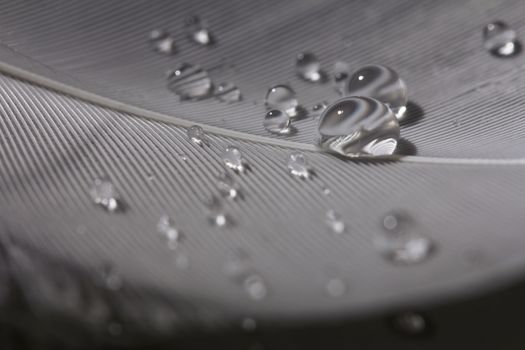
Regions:
[[[501,21],[487,24],[483,28],[485,49],[497,57],[512,57],[521,51],[516,32]]]

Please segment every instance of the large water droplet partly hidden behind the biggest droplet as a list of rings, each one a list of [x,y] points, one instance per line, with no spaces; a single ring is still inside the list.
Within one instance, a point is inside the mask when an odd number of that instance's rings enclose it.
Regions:
[[[401,119],[408,102],[407,87],[396,71],[381,65],[358,69],[348,80],[347,96],[371,97],[392,109]]]

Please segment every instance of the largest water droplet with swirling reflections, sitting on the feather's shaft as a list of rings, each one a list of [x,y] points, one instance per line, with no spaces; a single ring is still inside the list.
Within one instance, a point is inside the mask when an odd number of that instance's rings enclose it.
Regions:
[[[319,145],[347,157],[391,155],[399,133],[399,122],[385,104],[369,97],[346,97],[321,115]]]

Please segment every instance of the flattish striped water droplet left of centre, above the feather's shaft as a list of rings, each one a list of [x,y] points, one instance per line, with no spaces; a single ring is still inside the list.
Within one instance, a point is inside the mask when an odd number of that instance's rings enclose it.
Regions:
[[[213,84],[208,72],[200,66],[183,63],[167,74],[168,89],[181,100],[201,100],[209,97]]]

